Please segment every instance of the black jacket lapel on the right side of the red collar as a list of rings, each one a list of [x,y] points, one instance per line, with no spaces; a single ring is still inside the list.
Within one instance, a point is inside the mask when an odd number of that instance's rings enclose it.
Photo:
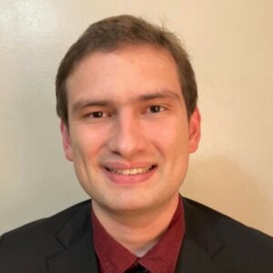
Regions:
[[[213,258],[224,247],[204,217],[204,213],[183,198],[186,234],[177,261],[176,272],[224,273]]]

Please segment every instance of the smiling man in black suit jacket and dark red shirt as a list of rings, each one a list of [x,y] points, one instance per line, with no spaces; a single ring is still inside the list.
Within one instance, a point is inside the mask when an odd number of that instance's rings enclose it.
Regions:
[[[0,272],[271,272],[273,240],[182,198],[197,85],[165,29],[91,25],[56,76],[66,159],[92,198],[5,234]]]

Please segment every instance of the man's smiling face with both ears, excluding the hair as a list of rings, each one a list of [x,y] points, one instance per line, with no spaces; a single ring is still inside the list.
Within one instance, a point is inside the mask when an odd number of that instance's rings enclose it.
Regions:
[[[86,56],[67,79],[66,158],[97,206],[148,211],[177,198],[197,149],[173,58],[150,45]]]

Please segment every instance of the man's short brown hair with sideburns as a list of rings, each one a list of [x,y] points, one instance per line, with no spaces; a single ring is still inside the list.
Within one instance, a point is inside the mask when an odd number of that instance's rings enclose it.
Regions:
[[[66,79],[79,62],[95,51],[110,52],[123,45],[148,44],[166,49],[177,63],[180,85],[190,117],[197,105],[197,83],[187,52],[176,35],[133,15],[108,17],[90,25],[61,61],[56,75],[56,112],[68,126]]]

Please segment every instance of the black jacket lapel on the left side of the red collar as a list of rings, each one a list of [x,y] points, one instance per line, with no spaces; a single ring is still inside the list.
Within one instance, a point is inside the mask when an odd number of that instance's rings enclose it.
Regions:
[[[63,250],[47,259],[50,273],[98,272],[89,206],[82,207],[56,235]]]

